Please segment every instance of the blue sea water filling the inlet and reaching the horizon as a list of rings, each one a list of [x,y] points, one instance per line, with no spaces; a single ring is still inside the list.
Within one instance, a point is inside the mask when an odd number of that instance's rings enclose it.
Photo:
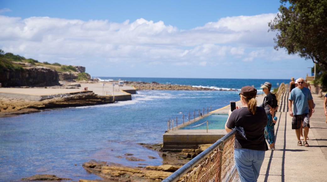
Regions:
[[[157,152],[139,143],[162,143],[169,119],[181,119],[182,114],[186,117],[203,108],[205,112],[207,108],[219,109],[231,100],[239,100],[239,91],[230,89],[252,85],[262,94],[260,86],[266,81],[273,87],[289,83],[288,79],[97,78],[217,90],[138,90],[129,101],[0,118],[0,181],[16,181],[35,174],[53,174],[74,181],[101,179],[82,167],[90,160],[126,166],[161,165]],[[145,161],[126,160],[126,153]]]

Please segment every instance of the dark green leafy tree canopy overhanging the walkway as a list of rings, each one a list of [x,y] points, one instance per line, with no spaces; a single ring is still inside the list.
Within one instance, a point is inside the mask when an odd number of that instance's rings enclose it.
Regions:
[[[327,70],[327,0],[280,2],[280,13],[268,24],[269,31],[277,32],[274,48],[285,48]]]

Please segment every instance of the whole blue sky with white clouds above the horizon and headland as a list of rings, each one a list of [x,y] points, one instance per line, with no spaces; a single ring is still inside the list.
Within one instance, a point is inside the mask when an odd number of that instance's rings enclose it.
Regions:
[[[274,1],[0,0],[0,49],[92,77],[290,79],[311,60],[274,49]]]

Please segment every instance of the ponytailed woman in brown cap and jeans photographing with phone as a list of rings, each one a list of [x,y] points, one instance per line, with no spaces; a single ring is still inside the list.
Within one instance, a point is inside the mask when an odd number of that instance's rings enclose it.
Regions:
[[[245,131],[246,138],[236,132],[234,143],[236,169],[242,182],[257,181],[268,150],[264,136],[267,115],[264,108],[257,106],[256,95],[254,87],[242,87],[239,96],[243,107],[230,110],[225,124],[228,133],[235,127],[242,127]]]

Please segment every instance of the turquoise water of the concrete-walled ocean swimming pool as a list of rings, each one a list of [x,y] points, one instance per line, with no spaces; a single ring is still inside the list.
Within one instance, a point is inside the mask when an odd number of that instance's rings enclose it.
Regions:
[[[181,129],[225,129],[228,114],[211,114]]]

